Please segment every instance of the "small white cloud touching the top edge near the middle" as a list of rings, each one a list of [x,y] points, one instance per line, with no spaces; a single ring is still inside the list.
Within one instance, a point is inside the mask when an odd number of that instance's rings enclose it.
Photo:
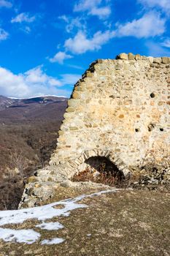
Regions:
[[[88,12],[88,15],[96,15],[98,18],[108,18],[111,14],[109,6],[102,6],[102,0],[80,0],[74,6],[74,12]]]

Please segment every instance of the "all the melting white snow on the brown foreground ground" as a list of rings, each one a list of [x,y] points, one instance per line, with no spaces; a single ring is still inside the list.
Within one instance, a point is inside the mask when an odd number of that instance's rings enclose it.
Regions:
[[[34,208],[26,208],[15,211],[0,211],[0,226],[9,224],[20,224],[28,219],[38,219],[42,223],[36,225],[43,230],[59,230],[63,225],[59,222],[45,222],[47,219],[53,217],[69,217],[71,211],[78,208],[86,208],[85,204],[78,203],[80,200],[87,197],[99,196],[102,194],[117,192],[119,189],[108,189],[101,192],[96,192],[91,195],[80,195],[73,199],[61,200],[56,203],[50,203],[46,206],[39,206]],[[57,206],[63,206],[57,208]],[[4,241],[12,241],[18,243],[32,244],[41,237],[41,234],[34,230],[12,230],[9,228],[0,227],[0,239]],[[65,241],[63,238],[52,238],[51,240],[44,240],[41,244],[60,244]]]

